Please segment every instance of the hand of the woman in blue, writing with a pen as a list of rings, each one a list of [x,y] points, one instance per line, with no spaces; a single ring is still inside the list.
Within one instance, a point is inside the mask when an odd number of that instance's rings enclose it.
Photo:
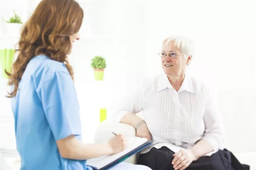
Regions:
[[[125,149],[125,136],[118,134],[110,138],[107,144],[111,149],[111,155],[119,153]]]

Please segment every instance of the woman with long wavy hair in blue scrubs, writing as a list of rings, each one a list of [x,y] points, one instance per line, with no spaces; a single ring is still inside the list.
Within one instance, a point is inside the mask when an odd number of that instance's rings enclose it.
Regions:
[[[9,75],[21,170],[85,170],[86,160],[125,148],[117,135],[105,144],[81,141],[79,104],[67,55],[83,10],[74,0],[43,0],[24,25]],[[121,163],[113,169],[149,169]]]

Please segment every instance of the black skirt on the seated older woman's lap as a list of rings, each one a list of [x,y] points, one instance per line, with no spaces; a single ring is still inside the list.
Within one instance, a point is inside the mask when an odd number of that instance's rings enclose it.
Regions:
[[[174,152],[163,146],[160,149],[151,148],[149,152],[139,155],[138,164],[153,170],[174,170],[171,164]],[[250,166],[241,164],[227,149],[218,150],[211,156],[202,156],[193,161],[186,170],[249,170]]]

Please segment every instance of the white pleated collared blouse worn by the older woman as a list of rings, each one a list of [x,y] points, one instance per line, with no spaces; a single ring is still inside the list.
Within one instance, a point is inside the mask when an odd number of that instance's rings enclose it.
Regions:
[[[177,92],[166,74],[147,80],[135,96],[119,105],[115,119],[120,121],[128,112],[143,111],[143,118],[157,149],[167,146],[174,152],[189,149],[200,139],[214,147],[211,155],[223,149],[222,120],[209,89],[188,74]],[[146,148],[142,153],[148,152]]]

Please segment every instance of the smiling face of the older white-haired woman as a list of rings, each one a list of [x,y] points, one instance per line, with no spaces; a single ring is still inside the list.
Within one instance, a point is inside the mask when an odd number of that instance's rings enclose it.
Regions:
[[[162,68],[165,74],[172,76],[180,76],[185,74],[186,64],[191,59],[191,57],[184,57],[184,55],[177,47],[174,46],[174,42],[170,42],[167,45],[164,45],[162,52],[167,55],[164,58],[161,58]],[[175,53],[177,58],[173,59],[168,54]]]

